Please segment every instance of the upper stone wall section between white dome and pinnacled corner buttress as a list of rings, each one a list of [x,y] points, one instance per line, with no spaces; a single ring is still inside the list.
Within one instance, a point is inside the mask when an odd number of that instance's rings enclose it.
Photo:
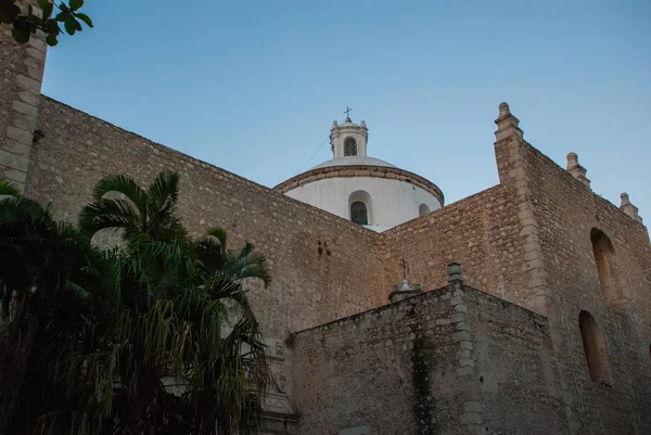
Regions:
[[[525,240],[513,189],[499,184],[384,232],[384,289],[398,283],[400,261],[424,289],[446,282],[446,265],[461,263],[469,285],[542,311],[528,292]]]

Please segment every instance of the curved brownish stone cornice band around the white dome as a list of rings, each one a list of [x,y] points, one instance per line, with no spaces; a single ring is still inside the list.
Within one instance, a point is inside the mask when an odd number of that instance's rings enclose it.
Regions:
[[[386,178],[390,180],[397,180],[408,182],[422,190],[430,192],[438,201],[441,205],[445,205],[445,196],[436,184],[432,181],[418,176],[408,170],[398,169],[388,166],[370,166],[370,165],[350,165],[350,166],[328,166],[324,168],[317,168],[308,170],[292,177],[289,180],[278,184],[273,188],[276,192],[286,193],[291,190],[305,185],[307,183],[324,180],[327,178],[348,178],[348,177],[371,177],[371,178]]]

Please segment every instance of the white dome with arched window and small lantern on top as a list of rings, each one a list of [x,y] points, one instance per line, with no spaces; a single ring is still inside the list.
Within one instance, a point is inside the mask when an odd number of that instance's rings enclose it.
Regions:
[[[381,232],[443,206],[433,182],[367,154],[368,128],[346,118],[332,123],[334,158],[273,190]]]

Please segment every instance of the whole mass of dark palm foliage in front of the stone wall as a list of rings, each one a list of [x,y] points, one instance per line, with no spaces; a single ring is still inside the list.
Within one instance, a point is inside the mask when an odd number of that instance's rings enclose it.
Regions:
[[[0,433],[255,431],[268,368],[243,281],[269,283],[265,258],[219,228],[191,239],[178,183],[103,178],[79,230],[0,182],[0,345],[20,350],[0,357]],[[122,246],[100,254],[98,231]]]

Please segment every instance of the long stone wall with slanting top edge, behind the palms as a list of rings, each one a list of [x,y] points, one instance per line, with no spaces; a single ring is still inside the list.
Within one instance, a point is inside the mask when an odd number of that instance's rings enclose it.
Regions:
[[[229,232],[269,259],[273,282],[255,287],[254,308],[267,335],[349,316],[384,303],[376,234],[254,182],[42,98],[26,194],[73,220],[107,174],[150,182],[162,169],[181,174],[180,209],[189,230]],[[354,260],[352,260],[354,259]]]

